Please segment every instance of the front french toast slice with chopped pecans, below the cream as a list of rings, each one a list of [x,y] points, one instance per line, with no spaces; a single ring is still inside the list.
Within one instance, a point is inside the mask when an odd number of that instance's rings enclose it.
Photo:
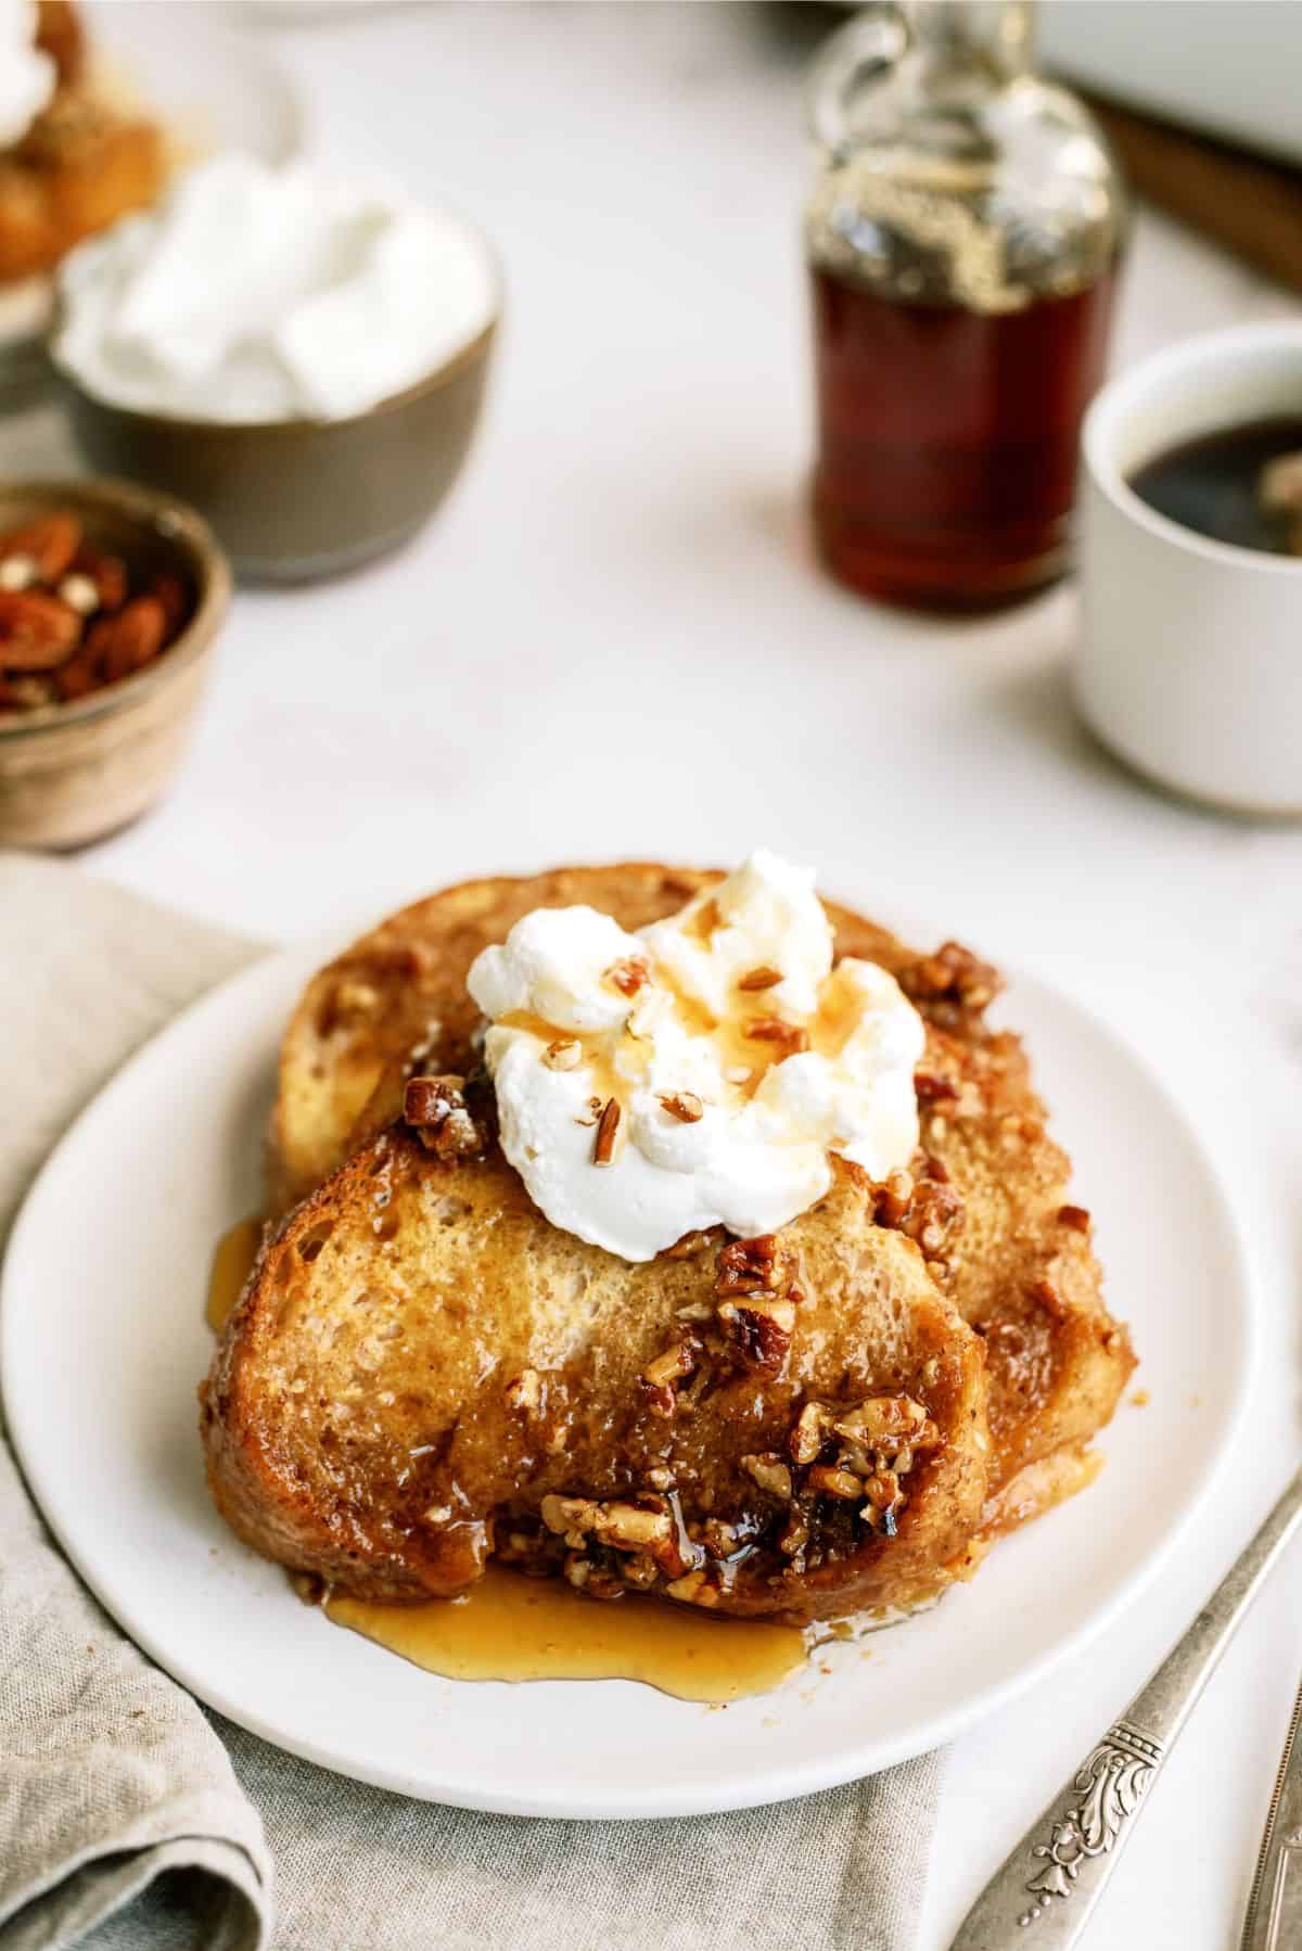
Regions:
[[[629,1264],[496,1147],[392,1126],[264,1247],[201,1424],[240,1537],[359,1596],[453,1596],[496,1555],[806,1621],[962,1574],[984,1370],[857,1167],[779,1235]]]

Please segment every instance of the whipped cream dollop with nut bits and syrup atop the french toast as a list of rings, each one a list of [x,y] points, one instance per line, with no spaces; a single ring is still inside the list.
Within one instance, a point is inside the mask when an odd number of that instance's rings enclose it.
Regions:
[[[917,1147],[925,1032],[873,962],[832,966],[812,870],[750,860],[629,935],[535,909],[470,968],[502,1149],[552,1225],[625,1260],[769,1233]]]

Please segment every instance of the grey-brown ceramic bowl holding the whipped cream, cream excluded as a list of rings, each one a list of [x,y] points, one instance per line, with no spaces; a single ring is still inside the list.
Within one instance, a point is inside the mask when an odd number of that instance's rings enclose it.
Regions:
[[[429,521],[470,449],[494,336],[496,312],[414,386],[365,414],[320,421],[142,412],[88,392],[55,365],[96,470],[189,501],[242,577],[308,581],[388,554]]]

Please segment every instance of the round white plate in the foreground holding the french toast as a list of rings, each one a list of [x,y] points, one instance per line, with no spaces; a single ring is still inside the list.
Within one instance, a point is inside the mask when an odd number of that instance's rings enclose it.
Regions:
[[[277,1036],[320,948],[258,964],[148,1044],[62,1139],[16,1225],[0,1366],[27,1481],[107,1610],[256,1734],[467,1809],[668,1816],[750,1807],[919,1754],[1038,1680],[1156,1574],[1232,1442],[1251,1354],[1243,1256],[1181,1112],[1078,1005],[1019,979],[1056,1130],[1097,1217],[1148,1407],[1083,1496],[972,1586],[726,1711],[631,1682],[449,1682],[306,1612],[209,1504],[195,1432],[209,1253],[258,1198]]]

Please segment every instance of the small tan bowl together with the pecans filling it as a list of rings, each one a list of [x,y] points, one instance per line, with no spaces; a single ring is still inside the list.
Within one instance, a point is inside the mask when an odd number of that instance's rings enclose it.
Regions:
[[[0,484],[0,845],[84,847],[158,798],[228,595],[213,535],[170,496]]]

